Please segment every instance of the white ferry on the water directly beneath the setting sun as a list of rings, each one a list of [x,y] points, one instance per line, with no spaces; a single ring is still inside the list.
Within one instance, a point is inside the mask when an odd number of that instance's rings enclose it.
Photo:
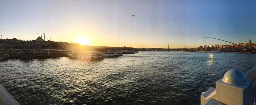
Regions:
[[[81,58],[81,59],[103,58],[103,53],[100,51],[69,51],[67,55],[69,57],[75,57],[75,58]]]

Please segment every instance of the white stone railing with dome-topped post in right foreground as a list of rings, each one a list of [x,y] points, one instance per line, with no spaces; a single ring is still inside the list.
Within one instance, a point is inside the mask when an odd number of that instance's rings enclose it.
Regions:
[[[201,94],[201,105],[255,105],[256,66],[243,73],[231,69],[216,81],[216,88]]]

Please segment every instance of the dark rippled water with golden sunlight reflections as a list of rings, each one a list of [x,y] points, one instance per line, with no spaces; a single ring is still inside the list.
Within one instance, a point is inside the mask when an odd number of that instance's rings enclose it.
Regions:
[[[139,52],[83,62],[67,57],[0,61],[0,83],[22,105],[199,105],[226,71],[256,54]]]

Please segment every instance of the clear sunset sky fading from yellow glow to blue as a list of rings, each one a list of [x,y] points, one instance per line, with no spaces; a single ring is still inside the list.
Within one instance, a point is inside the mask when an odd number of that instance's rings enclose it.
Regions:
[[[256,43],[255,5],[256,0],[0,0],[0,35],[33,40],[45,33],[48,40],[86,38],[90,46],[135,48],[229,44],[202,37]]]

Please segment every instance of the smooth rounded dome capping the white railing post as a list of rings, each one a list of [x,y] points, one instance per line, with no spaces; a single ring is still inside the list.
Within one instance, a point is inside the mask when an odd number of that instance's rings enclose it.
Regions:
[[[222,81],[229,85],[245,85],[247,79],[244,72],[241,70],[231,69],[225,73]]]

